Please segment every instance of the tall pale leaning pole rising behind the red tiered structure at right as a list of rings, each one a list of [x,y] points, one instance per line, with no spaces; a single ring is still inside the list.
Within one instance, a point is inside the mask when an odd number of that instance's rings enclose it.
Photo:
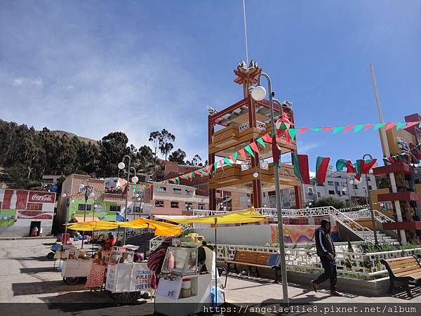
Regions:
[[[377,91],[377,82],[375,80],[373,65],[370,65],[370,72],[371,72],[371,80],[373,81],[373,90],[374,90],[374,95],[375,95],[375,101],[377,103],[377,112],[379,114],[380,123],[385,123],[385,121],[383,121],[382,107],[380,105],[379,92]],[[385,127],[382,127],[380,129],[380,134],[382,136],[382,143],[383,143],[383,148],[385,150],[385,155],[386,157],[389,157],[390,156],[389,143],[387,142]],[[398,190],[396,189],[396,180],[394,177],[394,173],[389,173],[389,178],[390,178],[390,185],[392,186],[392,193],[398,192]],[[396,209],[396,221],[402,222],[403,220],[402,220],[401,204],[399,204],[399,201],[394,201],[394,204],[395,204],[395,209]],[[399,235],[401,236],[401,243],[406,244],[405,230],[399,230]]]

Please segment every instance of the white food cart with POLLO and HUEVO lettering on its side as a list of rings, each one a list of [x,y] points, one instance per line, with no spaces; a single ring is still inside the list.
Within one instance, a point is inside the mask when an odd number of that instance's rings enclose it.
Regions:
[[[134,251],[112,251],[108,261],[105,289],[120,303],[132,303],[138,298],[149,298],[152,271],[146,262],[133,262]]]

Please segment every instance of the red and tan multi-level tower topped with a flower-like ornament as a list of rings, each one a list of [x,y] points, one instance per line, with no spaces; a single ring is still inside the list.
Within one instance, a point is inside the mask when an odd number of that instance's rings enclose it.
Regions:
[[[229,105],[219,112],[213,111],[208,115],[208,163],[212,165],[215,160],[241,150],[257,138],[269,133],[271,129],[269,116],[269,101],[255,101],[250,96],[250,86],[256,84],[258,75],[262,69],[255,61],[250,65],[246,62],[239,63],[234,70],[236,84],[243,85],[243,99],[233,105]],[[280,117],[278,105],[274,105],[275,121]],[[283,112],[294,122],[293,110],[290,105],[283,105]],[[284,154],[297,152],[295,140],[287,144],[283,138],[278,143],[281,157]],[[218,159],[219,158],[219,159]],[[260,147],[260,153],[255,157],[248,155],[247,161],[237,157],[236,164],[224,166],[224,170],[218,169],[209,175],[209,208],[216,210],[216,191],[232,192],[250,197],[250,205],[255,208],[262,207],[262,193],[267,196],[274,189],[274,171],[272,145],[267,143],[265,148]],[[288,159],[289,160],[289,159]],[[293,188],[295,191],[295,205],[302,208],[301,183],[295,177],[292,164],[282,163],[279,169],[281,190]],[[232,211],[237,208],[233,205]]]

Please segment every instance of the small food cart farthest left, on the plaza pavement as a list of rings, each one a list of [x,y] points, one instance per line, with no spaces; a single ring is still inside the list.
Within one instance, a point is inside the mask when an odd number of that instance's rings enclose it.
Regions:
[[[61,275],[63,280],[73,285],[79,282],[80,277],[88,277],[93,259],[88,258],[84,251],[71,249],[65,251],[65,260],[62,263]]]

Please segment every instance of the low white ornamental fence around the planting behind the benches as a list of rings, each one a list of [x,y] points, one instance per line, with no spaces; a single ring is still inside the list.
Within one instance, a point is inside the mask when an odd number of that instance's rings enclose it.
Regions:
[[[276,253],[278,247],[272,246],[245,246],[218,244],[217,258],[220,261],[233,260],[236,250],[263,251]],[[373,254],[361,254],[354,252],[337,251],[336,265],[338,275],[360,275],[364,277],[382,277],[387,274],[385,266],[380,263],[382,259],[398,258],[402,256],[412,256],[421,254],[421,248],[406,249],[397,251],[385,251]],[[285,259],[287,270],[314,272],[314,270],[323,270],[316,250],[311,249],[285,249]]]

